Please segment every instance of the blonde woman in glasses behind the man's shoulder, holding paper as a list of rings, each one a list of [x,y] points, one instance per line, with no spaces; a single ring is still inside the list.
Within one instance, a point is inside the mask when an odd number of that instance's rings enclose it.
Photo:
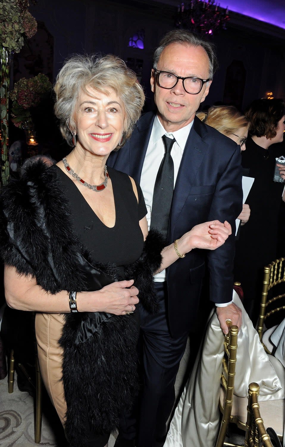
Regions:
[[[205,124],[214,127],[217,131],[239,144],[241,151],[245,151],[249,122],[234,105],[213,105],[207,113],[198,112],[197,116]],[[249,205],[244,203],[243,211],[238,216],[238,219],[241,220],[241,226],[248,222],[249,216]]]

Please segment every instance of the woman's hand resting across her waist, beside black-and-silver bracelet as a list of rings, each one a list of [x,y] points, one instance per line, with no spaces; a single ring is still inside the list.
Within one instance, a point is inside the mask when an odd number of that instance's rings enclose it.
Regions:
[[[139,302],[137,298],[139,291],[133,286],[133,283],[133,279],[118,281],[108,284],[96,292],[78,293],[78,310],[83,312],[84,307],[88,309],[87,312],[107,312],[114,315],[133,312],[136,308],[135,304]],[[81,295],[80,298],[79,295]]]

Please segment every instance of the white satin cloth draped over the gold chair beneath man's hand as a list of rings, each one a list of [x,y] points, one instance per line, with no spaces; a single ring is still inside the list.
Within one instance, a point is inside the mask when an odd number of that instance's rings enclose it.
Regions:
[[[259,400],[284,399],[285,368],[275,358],[273,364],[260,343],[240,298],[233,292],[234,303],[242,309],[243,323],[238,335],[235,394],[248,396],[248,385],[260,385]],[[206,333],[193,371],[184,388],[170,424],[164,447],[213,447],[219,431],[219,389],[222,372],[223,332],[215,309],[209,317]],[[278,372],[275,370],[278,369]]]

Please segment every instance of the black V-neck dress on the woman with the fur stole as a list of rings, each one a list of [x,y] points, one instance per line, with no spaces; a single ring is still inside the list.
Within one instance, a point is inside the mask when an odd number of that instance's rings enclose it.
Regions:
[[[111,262],[112,264],[116,264],[120,275],[124,277],[123,267],[132,264],[132,262],[140,257],[144,244],[144,237],[139,226],[139,221],[146,215],[147,210],[140,186],[137,185],[139,197],[137,202],[133,192],[132,182],[128,175],[108,168],[108,174],[112,180],[116,209],[115,225],[109,228],[91,209],[70,176],[62,172],[57,166],[56,170],[62,184],[62,191],[68,200],[70,218],[75,234],[77,234],[80,241],[89,250],[95,262],[102,262],[103,264]],[[100,193],[94,192],[94,194]],[[138,312],[136,311],[132,317],[137,319]],[[51,314],[50,318],[53,317],[56,318],[56,314]],[[44,320],[42,318],[41,325],[43,324]],[[85,446],[105,446],[110,433],[92,433],[88,424],[87,410],[85,421],[85,431],[89,435],[89,441]]]

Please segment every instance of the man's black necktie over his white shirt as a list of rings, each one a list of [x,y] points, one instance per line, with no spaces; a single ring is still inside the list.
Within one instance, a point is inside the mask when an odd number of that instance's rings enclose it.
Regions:
[[[174,166],[170,151],[175,139],[163,135],[162,141],[165,154],[154,184],[150,228],[159,230],[166,239],[174,185]]]

